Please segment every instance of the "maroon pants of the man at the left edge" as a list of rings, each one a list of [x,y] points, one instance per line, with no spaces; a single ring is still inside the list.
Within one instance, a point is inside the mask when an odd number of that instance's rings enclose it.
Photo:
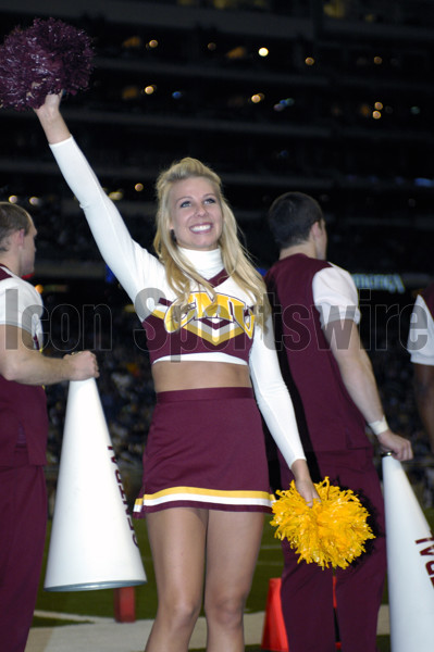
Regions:
[[[44,468],[27,465],[26,453],[22,457],[17,466],[0,467],[0,649],[4,652],[23,652],[26,647],[46,537]]]

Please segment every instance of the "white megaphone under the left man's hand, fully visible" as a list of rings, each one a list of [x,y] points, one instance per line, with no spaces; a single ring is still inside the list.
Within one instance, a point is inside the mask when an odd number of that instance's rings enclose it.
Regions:
[[[97,384],[71,381],[44,588],[84,591],[145,582]]]

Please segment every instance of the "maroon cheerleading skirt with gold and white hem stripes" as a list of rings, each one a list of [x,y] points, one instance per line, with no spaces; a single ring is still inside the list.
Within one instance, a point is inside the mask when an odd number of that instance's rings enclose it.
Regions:
[[[175,506],[271,512],[261,417],[248,387],[157,396],[134,515]]]

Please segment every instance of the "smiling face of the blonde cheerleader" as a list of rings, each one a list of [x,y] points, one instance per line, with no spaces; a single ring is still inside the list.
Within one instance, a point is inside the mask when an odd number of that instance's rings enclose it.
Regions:
[[[176,181],[170,191],[170,228],[179,247],[211,251],[218,248],[223,214],[215,187],[204,177]]]

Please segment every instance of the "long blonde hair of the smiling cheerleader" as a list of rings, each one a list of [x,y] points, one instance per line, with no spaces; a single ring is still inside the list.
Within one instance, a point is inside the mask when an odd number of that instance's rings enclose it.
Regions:
[[[202,286],[215,301],[215,290],[206,278],[200,276],[189,261],[178,250],[171,233],[170,192],[174,184],[189,178],[201,177],[209,180],[215,191],[223,214],[223,230],[219,239],[222,260],[227,274],[251,298],[253,312],[263,326],[270,306],[264,281],[250,261],[237,235],[237,223],[222,191],[222,181],[210,167],[197,159],[185,158],[163,171],[156,184],[158,210],[157,233],[153,239],[154,250],[165,266],[169,285],[177,294],[175,305],[179,317],[187,310],[191,280]]]

